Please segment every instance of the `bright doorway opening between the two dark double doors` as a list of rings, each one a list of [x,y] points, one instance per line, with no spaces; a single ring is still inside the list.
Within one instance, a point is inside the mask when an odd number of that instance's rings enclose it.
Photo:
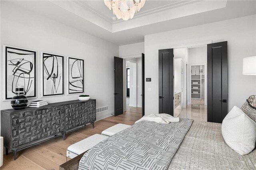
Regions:
[[[175,117],[207,121],[206,69],[206,45],[174,49]]]

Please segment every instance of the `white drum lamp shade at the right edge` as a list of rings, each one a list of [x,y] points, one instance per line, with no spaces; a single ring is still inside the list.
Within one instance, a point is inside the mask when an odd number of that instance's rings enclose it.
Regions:
[[[256,75],[256,56],[243,59],[243,75]]]

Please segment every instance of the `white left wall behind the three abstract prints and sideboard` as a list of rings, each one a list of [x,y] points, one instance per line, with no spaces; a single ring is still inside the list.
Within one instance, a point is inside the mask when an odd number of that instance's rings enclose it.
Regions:
[[[109,106],[109,111],[99,113],[97,117],[103,118],[110,116],[114,112],[113,68],[114,56],[118,56],[117,45],[85,34],[50,18],[24,10],[18,6],[10,5],[8,1],[1,1],[1,48],[3,44],[38,51],[36,70],[38,98],[33,100],[41,99],[40,51],[46,51],[84,58],[85,93],[89,94],[92,99],[96,99],[96,107]],[[0,55],[2,60],[2,53]],[[1,74],[1,84],[3,78]],[[66,84],[64,84],[65,93]],[[60,97],[46,97],[44,99],[48,103],[55,103],[76,100],[77,97],[78,95],[65,95]],[[1,109],[11,108],[10,101],[1,101],[1,106]]]

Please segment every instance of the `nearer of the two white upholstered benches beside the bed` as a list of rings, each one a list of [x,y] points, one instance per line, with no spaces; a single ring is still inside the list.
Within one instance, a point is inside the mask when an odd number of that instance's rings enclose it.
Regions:
[[[66,158],[74,158],[83,152],[89,150],[96,144],[100,143],[101,141],[105,140],[109,136],[102,135],[102,134],[94,134],[88,138],[85,138],[79,142],[76,142],[70,146],[68,146],[67,149],[67,157]]]

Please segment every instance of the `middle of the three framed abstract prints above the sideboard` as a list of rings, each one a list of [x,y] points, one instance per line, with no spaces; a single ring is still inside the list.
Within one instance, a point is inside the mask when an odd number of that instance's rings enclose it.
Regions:
[[[49,57],[55,57],[55,59],[57,59],[57,70],[55,70],[54,69],[54,59],[53,59],[53,65],[52,65],[52,69],[51,69],[51,72],[49,72],[47,69],[46,69],[46,65],[45,65],[45,59],[48,59]],[[58,65],[58,58],[60,58],[60,59],[62,59],[62,61],[60,62],[62,65],[61,65],[61,69],[62,69],[62,74],[61,74],[61,77],[60,77],[60,79],[59,79],[59,82],[57,82],[58,83],[58,85],[56,85],[56,87],[53,87],[53,86],[55,86],[55,83],[56,83],[56,80],[53,80],[53,79],[56,79],[56,78],[58,78],[58,67],[59,67],[59,65]],[[46,70],[45,70],[46,69]],[[57,76],[57,77],[55,77],[55,78],[53,78],[53,77],[51,77],[52,76],[52,74],[54,74],[53,72],[55,71],[55,73],[57,74],[55,74],[55,76]],[[56,72],[57,71],[57,72]],[[48,73],[48,79],[47,80],[49,80],[49,79],[52,79],[52,89],[54,89],[54,90],[52,90],[52,93],[51,94],[45,94],[45,91],[46,91],[46,88],[47,87],[45,87],[45,79],[44,79],[44,76],[45,76],[45,72],[47,72]],[[62,85],[60,85],[60,81],[62,81]],[[58,88],[59,87],[61,87],[62,88],[62,90],[61,90],[61,93],[54,93],[54,91],[58,91]],[[57,88],[57,89],[56,89]],[[45,53],[45,52],[42,52],[42,97],[50,97],[50,96],[56,96],[56,95],[64,95],[64,56],[63,55],[56,55],[56,54],[53,54],[53,53]]]

